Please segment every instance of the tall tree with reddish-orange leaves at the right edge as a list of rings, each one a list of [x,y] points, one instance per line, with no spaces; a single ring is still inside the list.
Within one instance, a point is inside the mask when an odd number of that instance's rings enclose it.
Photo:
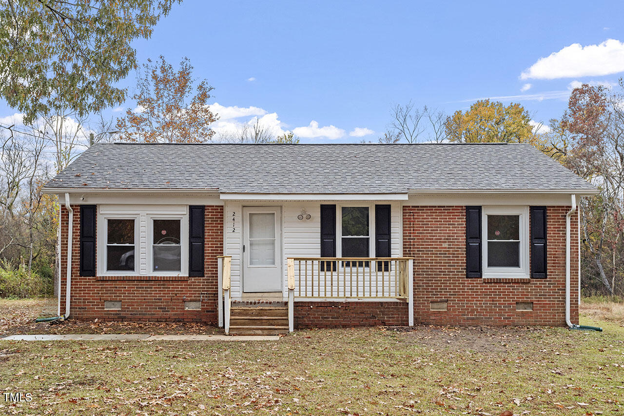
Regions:
[[[582,282],[590,291],[600,282],[610,295],[616,294],[618,282],[624,280],[622,102],[622,79],[620,91],[582,84],[572,90],[562,119],[551,121],[549,134],[557,151],[554,157],[600,189],[598,196],[580,201],[582,256],[588,260],[582,262]]]

